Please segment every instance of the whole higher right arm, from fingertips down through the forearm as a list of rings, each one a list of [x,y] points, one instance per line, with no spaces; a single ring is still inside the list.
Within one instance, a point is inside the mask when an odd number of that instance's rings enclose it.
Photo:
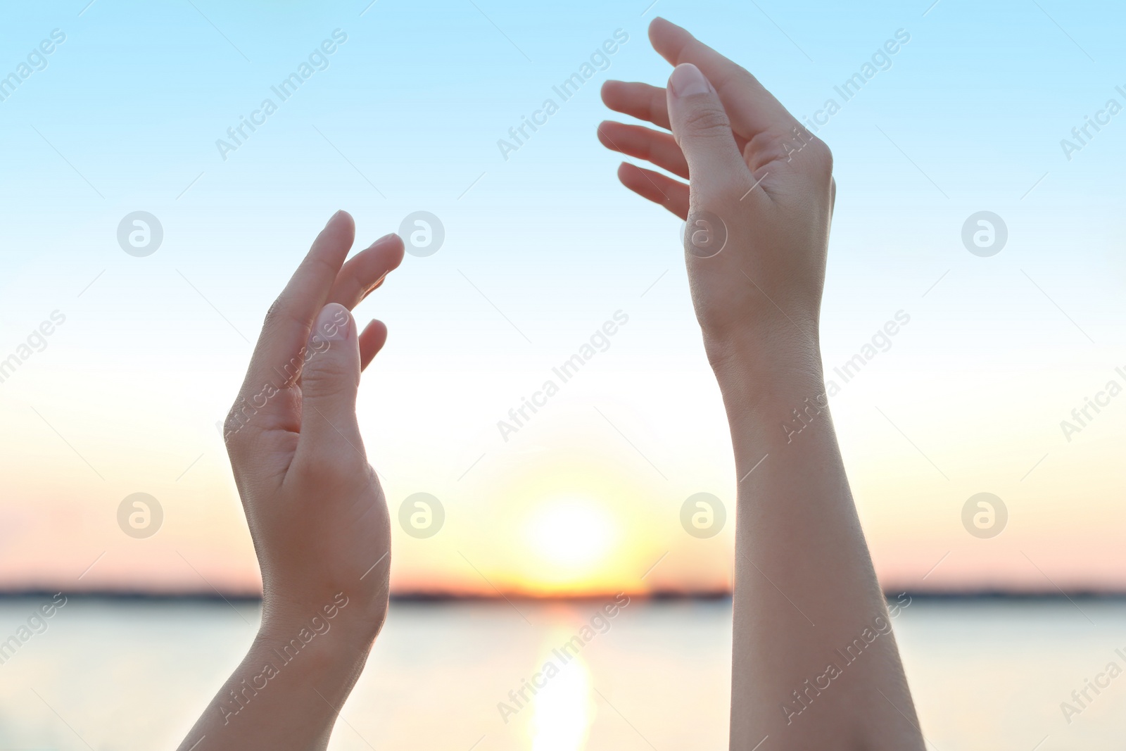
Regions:
[[[608,81],[626,187],[687,220],[692,303],[731,423],[735,530],[731,749],[923,748],[829,415],[817,323],[829,149],[753,75],[663,19],[667,89]],[[668,132],[671,129],[671,134]],[[796,439],[795,439],[796,436]]]

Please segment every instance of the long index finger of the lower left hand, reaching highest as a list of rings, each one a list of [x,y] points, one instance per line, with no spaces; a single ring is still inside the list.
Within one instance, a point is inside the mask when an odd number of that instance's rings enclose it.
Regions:
[[[266,315],[240,399],[232,412],[245,413],[249,408],[244,402],[263,390],[272,394],[296,383],[303,361],[302,348],[309,340],[313,321],[328,302],[329,290],[355,236],[352,217],[347,212],[337,212],[313,241],[305,259]],[[263,430],[296,430],[296,414],[286,409],[292,404],[293,401],[287,399],[268,399],[260,406],[253,405],[254,419],[247,422]]]

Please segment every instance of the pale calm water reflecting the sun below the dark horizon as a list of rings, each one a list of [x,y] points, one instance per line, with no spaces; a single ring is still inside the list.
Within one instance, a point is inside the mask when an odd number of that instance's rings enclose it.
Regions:
[[[0,599],[0,640],[48,601]],[[534,703],[510,698],[602,605],[394,602],[330,749],[725,749],[725,600],[635,600],[596,620]],[[71,598],[0,664],[0,749],[173,749],[257,620],[253,602]],[[929,748],[1117,751],[1126,739],[1126,676],[1089,689],[1070,724],[1060,707],[1107,663],[1126,668],[1124,601],[917,598],[895,631]]]

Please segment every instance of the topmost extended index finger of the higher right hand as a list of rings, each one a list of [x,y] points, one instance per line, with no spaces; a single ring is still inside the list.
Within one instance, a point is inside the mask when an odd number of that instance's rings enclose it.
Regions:
[[[775,128],[789,132],[797,123],[786,108],[747,70],[699,42],[686,29],[654,18],[649,26],[653,48],[673,65],[692,63],[715,87],[735,131],[751,138]]]

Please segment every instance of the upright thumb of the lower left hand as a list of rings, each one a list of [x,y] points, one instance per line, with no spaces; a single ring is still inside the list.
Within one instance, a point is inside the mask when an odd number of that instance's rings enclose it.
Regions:
[[[321,309],[304,359],[301,444],[314,454],[359,452],[359,336],[347,307],[329,303]]]

